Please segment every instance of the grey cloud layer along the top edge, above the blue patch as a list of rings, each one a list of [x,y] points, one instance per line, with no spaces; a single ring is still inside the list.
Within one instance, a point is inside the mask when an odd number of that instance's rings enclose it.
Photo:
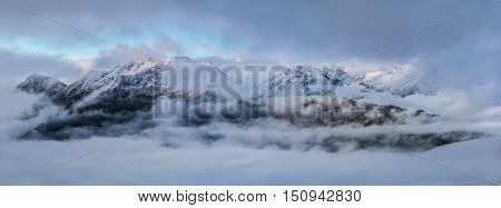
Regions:
[[[482,1],[45,1],[17,4],[99,33],[101,30],[135,36],[163,23],[187,31],[216,30],[226,44],[249,43],[254,52],[283,53],[298,58],[334,59],[410,33],[454,17]],[[1,7],[9,30],[19,36],[51,32],[40,18]],[[499,8],[451,21],[423,34],[393,43],[369,57],[409,58],[443,50],[475,33],[500,32]],[[30,27],[18,27],[23,23]],[[40,24],[40,26],[38,26]],[[40,31],[40,28],[46,28]],[[29,29],[27,29],[29,28]],[[60,33],[60,29],[55,29]],[[33,30],[33,31],[29,31]],[[65,33],[65,32],[62,32]]]

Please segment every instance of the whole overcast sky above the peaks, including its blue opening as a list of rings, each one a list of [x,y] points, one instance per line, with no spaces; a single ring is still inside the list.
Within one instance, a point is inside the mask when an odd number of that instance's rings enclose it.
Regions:
[[[335,62],[492,2],[2,0],[0,61],[8,65],[0,70],[70,79],[144,53],[255,63]],[[501,3],[350,58],[413,62],[435,81],[458,86],[471,82],[472,75],[479,83],[492,82],[501,79],[499,37]]]

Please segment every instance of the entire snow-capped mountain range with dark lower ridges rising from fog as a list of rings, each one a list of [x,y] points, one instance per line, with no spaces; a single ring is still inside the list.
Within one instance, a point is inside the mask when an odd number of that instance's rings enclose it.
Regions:
[[[163,62],[148,59],[117,66],[109,71],[90,71],[69,85],[56,78],[31,75],[17,88],[49,98],[67,113],[48,119],[21,138],[66,140],[94,135],[134,135],[155,126],[155,117],[175,117],[178,125],[191,127],[212,122],[253,126],[268,120],[298,128],[424,125],[440,119],[439,115],[419,109],[370,103],[336,93],[343,87],[354,87],[361,93],[387,92],[397,97],[433,92],[421,80],[406,80],[405,70],[352,76],[337,67],[296,66],[273,76],[264,85],[266,90],[249,99],[240,97],[237,87],[225,85],[233,78],[210,61],[186,57]],[[132,128],[138,130],[109,130],[131,122],[139,126]],[[75,129],[86,129],[78,132],[88,133],[76,136]],[[409,140],[415,140],[421,143],[415,146],[419,147],[414,148],[416,150],[475,139],[481,135],[468,131],[390,133],[374,136],[380,138],[377,142],[367,142],[364,136],[330,138],[322,143],[330,148],[338,146],[337,141],[356,141],[362,149],[402,145],[406,148]]]

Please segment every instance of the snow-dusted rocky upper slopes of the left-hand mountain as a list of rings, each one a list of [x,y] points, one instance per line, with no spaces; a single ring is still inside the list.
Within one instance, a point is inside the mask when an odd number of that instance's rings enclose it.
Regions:
[[[190,100],[228,96],[223,90],[224,78],[225,73],[209,61],[175,57],[165,62],[148,59],[110,71],[90,71],[69,86],[33,75],[18,88],[46,93],[56,103],[72,109],[99,109],[105,105],[106,110],[147,110],[160,96]]]

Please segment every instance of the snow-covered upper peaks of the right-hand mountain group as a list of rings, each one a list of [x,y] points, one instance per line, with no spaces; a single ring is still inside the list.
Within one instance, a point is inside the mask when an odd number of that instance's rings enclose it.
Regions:
[[[364,93],[372,92],[389,92],[399,97],[434,92],[434,89],[422,81],[421,75],[412,68],[393,67],[353,76],[340,67],[297,66],[274,76],[268,81],[265,95],[325,96],[334,95],[343,88],[362,92],[351,93],[352,98],[364,97]]]

